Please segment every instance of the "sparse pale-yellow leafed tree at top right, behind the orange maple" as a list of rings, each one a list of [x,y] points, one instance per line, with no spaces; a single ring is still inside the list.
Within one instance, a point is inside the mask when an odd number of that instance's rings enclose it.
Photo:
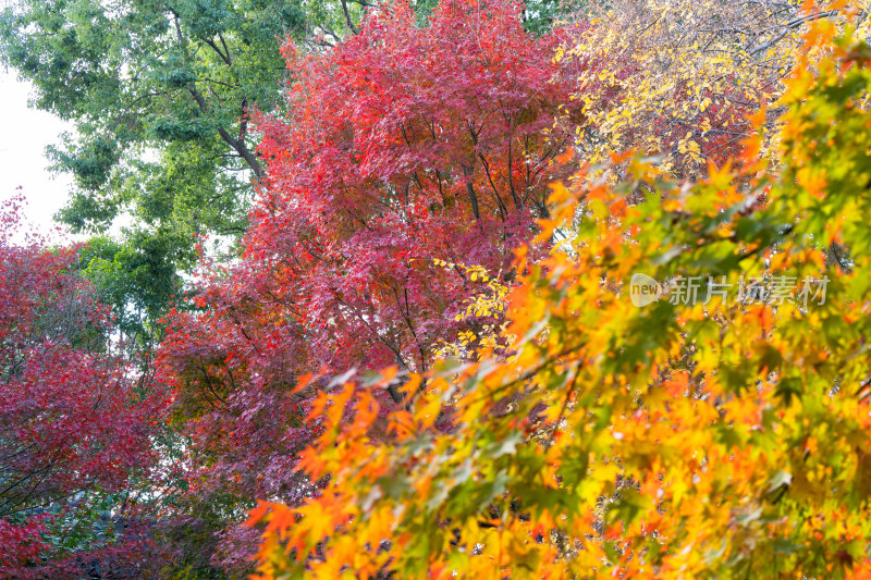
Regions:
[[[736,3],[689,0],[596,2],[596,23],[560,47],[557,59],[608,62],[582,75],[573,98],[590,122],[577,139],[581,155],[604,162],[629,148],[660,157],[664,171],[698,176],[737,155],[755,127],[747,115],[770,108],[796,65],[802,25],[842,20],[821,3]],[[602,83],[602,81],[610,81]],[[603,88],[624,87],[615,100]],[[772,132],[773,134],[773,132]],[[768,147],[766,147],[768,148]]]

